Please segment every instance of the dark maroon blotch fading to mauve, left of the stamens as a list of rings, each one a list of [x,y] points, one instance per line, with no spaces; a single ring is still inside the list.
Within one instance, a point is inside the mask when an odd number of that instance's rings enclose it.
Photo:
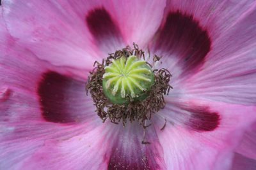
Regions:
[[[38,85],[38,96],[45,120],[56,123],[77,122],[79,114],[83,113],[81,104],[86,103],[79,94],[84,92],[83,83],[53,71],[42,77]]]

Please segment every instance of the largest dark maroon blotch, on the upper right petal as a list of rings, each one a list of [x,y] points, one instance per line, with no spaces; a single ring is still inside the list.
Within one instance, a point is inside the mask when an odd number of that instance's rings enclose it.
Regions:
[[[191,71],[204,63],[211,50],[211,39],[193,16],[170,12],[157,33],[155,48],[176,56],[184,71]]]

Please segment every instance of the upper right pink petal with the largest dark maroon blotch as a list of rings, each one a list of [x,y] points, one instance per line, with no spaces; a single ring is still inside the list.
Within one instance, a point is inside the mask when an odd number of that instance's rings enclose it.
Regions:
[[[163,57],[157,67],[173,74],[174,90],[255,104],[255,13],[255,1],[168,2],[151,45]]]

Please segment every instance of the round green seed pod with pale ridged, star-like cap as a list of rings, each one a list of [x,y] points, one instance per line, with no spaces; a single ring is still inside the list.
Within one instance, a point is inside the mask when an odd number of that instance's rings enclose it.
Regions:
[[[135,55],[112,60],[104,69],[103,92],[115,104],[142,101],[154,84],[152,69]]]

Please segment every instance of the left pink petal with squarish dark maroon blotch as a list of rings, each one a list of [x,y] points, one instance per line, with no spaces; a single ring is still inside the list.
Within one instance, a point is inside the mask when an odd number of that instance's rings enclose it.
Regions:
[[[85,79],[9,41],[0,58],[0,169],[20,169],[46,140],[84,134],[102,121]]]

